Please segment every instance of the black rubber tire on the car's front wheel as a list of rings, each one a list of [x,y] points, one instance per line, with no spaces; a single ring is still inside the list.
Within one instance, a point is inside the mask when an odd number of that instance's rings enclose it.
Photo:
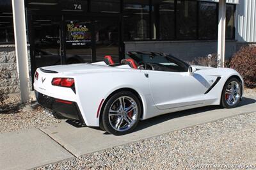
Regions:
[[[230,84],[231,82],[236,82],[239,85],[239,94],[240,94],[240,96],[237,99],[236,104],[234,104],[234,105],[229,105],[227,100],[226,100],[226,89],[227,89],[228,84]],[[237,78],[233,77],[231,79],[228,79],[228,81],[225,83],[225,85],[223,87],[223,90],[222,90],[222,93],[221,93],[221,106],[224,107],[224,108],[227,108],[227,109],[232,109],[234,107],[237,107],[237,105],[240,103],[240,100],[241,100],[242,88],[243,88],[243,86]]]

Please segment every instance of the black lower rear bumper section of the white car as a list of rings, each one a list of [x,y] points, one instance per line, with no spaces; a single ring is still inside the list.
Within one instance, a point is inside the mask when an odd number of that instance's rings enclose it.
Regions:
[[[61,100],[59,98],[49,97],[38,91],[35,91],[38,104],[53,111],[57,119],[79,120],[84,123],[83,117],[76,102]]]

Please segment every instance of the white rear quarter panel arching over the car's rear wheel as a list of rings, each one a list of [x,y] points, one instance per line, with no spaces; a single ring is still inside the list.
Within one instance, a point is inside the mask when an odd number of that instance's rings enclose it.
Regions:
[[[140,70],[120,70],[116,72],[95,72],[76,75],[79,108],[89,126],[99,126],[97,110],[100,102],[117,89],[131,88],[137,91],[143,102],[143,114],[155,112],[150,95],[148,80]],[[153,108],[152,108],[153,107]],[[150,108],[150,109],[148,109]],[[103,109],[103,108],[101,108]],[[144,115],[147,117],[147,115]]]

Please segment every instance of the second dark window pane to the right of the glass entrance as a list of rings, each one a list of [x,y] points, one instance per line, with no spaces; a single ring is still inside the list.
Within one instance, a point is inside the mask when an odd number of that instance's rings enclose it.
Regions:
[[[158,37],[160,40],[172,40],[175,38],[174,25],[174,0],[170,1],[152,1],[152,11],[154,19],[154,38],[156,37],[156,27],[158,30]]]

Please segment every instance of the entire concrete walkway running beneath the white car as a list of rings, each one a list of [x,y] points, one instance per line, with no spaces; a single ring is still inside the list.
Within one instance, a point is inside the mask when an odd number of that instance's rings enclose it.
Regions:
[[[106,134],[99,128],[81,127],[76,121],[63,121],[52,127],[1,134],[0,169],[29,169],[173,130],[245,112],[256,112],[255,102],[256,97],[245,97],[235,109],[211,106],[165,114],[141,121],[136,132],[123,136]]]

